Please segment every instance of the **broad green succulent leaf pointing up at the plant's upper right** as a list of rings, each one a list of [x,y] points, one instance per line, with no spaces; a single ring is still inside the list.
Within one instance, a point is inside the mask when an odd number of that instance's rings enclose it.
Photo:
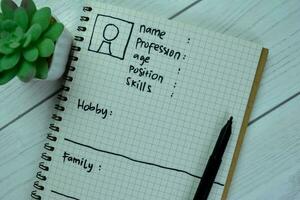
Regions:
[[[45,31],[51,19],[51,10],[48,7],[37,10],[31,20],[31,24],[39,24],[42,27],[42,31]]]

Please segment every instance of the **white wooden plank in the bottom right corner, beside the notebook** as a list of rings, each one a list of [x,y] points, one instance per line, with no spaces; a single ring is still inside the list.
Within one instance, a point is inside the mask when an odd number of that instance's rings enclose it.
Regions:
[[[248,127],[229,199],[300,197],[300,97]]]

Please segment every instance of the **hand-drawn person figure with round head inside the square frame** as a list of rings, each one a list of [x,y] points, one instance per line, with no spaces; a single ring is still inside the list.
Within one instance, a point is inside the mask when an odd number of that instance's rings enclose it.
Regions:
[[[119,28],[114,24],[107,24],[103,30],[103,41],[98,49],[99,53],[113,55],[111,52],[111,42],[119,35]]]

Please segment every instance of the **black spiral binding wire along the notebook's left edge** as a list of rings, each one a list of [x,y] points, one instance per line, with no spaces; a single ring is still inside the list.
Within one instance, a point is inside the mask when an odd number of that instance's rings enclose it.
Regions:
[[[90,12],[92,11],[92,7],[88,7],[88,6],[85,6],[83,7],[83,11],[84,12]],[[81,16],[80,17],[80,21],[83,21],[83,22],[87,22],[89,21],[89,17],[86,17],[86,16]],[[78,26],[77,27],[77,31],[78,32],[84,32],[86,31],[87,28],[84,27],[84,26]],[[76,40],[77,42],[83,42],[84,41],[84,38],[82,36],[75,36],[74,37],[74,40]],[[81,48],[79,46],[72,46],[71,47],[71,51],[81,51]],[[75,71],[76,67],[73,66],[72,64],[74,64],[74,62],[77,62],[78,61],[78,57],[77,56],[74,56],[74,55],[71,55],[70,56],[70,64],[67,66],[67,72],[73,72]],[[67,82],[72,82],[73,81],[73,77],[69,75],[69,73],[66,73],[63,78],[65,79],[65,81]],[[58,94],[57,95],[57,99],[59,99],[60,101],[68,101],[68,98],[66,96],[64,96],[64,94],[66,92],[69,92],[70,91],[70,87],[69,86],[66,86],[66,85],[63,85],[61,87],[61,91],[62,93]],[[64,112],[65,111],[65,108],[62,106],[62,105],[59,105],[59,104],[56,104],[54,106],[54,109],[59,112]],[[52,115],[52,119],[54,121],[57,121],[57,122],[60,122],[62,121],[62,117],[59,116],[58,114],[53,114]],[[45,152],[42,153],[41,155],[41,158],[43,161],[41,161],[39,163],[39,169],[40,171],[38,171],[36,173],[36,178],[38,180],[36,180],[33,184],[33,187],[35,188],[32,192],[31,192],[31,197],[33,199],[37,199],[37,200],[41,200],[42,199],[42,196],[40,194],[38,194],[39,191],[43,191],[45,189],[44,185],[43,185],[43,182],[45,182],[47,180],[47,177],[46,175],[43,173],[45,171],[49,171],[49,167],[48,167],[48,163],[51,162],[52,160],[52,157],[51,155],[49,155],[49,152],[53,152],[55,150],[55,147],[51,145],[51,143],[53,142],[56,142],[57,141],[57,137],[55,136],[55,132],[56,133],[59,133],[59,126],[57,124],[54,124],[54,123],[51,123],[49,125],[49,129],[51,130],[51,132],[49,132],[47,134],[47,140],[49,140],[49,142],[46,142],[44,144],[44,150]]]

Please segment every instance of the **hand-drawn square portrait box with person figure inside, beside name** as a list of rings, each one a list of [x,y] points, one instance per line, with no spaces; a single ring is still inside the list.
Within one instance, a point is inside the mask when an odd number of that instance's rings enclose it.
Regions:
[[[88,50],[123,60],[133,25],[123,19],[98,14]]]

